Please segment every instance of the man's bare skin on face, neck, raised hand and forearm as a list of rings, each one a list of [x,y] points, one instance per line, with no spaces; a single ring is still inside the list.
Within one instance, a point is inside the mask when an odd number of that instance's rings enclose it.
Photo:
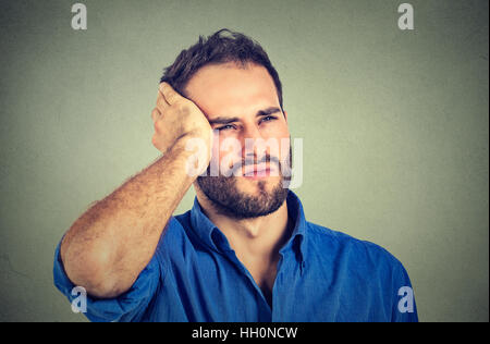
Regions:
[[[189,176],[186,163],[194,153],[185,149],[188,139],[200,139],[197,156],[205,169],[211,152],[226,137],[245,147],[245,138],[289,138],[287,114],[279,108],[272,78],[262,66],[234,63],[207,65],[187,83],[183,97],[170,85],[159,87],[151,112],[154,146],[163,156],[137,173],[102,200],[95,202],[70,228],[61,243],[61,259],[68,277],[96,297],[115,297],[126,292],[148,265],[167,224],[186,191],[194,184],[205,213],[228,237],[238,259],[248,269],[271,303],[279,248],[291,235],[286,204],[274,212],[255,219],[236,220],[217,211]],[[279,111],[257,115],[260,110]],[[235,118],[223,127],[217,119]],[[220,128],[219,137],[211,128]],[[242,159],[243,150],[233,157]],[[252,152],[256,158],[264,151]],[[230,156],[228,156],[230,158]],[[222,159],[223,157],[220,157]],[[278,157],[283,158],[283,157]],[[243,170],[242,173],[245,173]],[[270,192],[280,176],[249,179],[237,176],[240,193],[258,195],[258,183]]]

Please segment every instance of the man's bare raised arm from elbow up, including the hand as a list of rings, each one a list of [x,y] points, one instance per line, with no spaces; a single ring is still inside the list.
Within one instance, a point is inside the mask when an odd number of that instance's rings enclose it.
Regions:
[[[206,145],[200,159],[210,160],[211,127],[203,112],[170,85],[159,89],[152,144],[163,152],[79,217],[61,243],[60,255],[70,280],[96,297],[127,291],[148,265],[161,233],[197,175],[187,173],[189,138]]]

